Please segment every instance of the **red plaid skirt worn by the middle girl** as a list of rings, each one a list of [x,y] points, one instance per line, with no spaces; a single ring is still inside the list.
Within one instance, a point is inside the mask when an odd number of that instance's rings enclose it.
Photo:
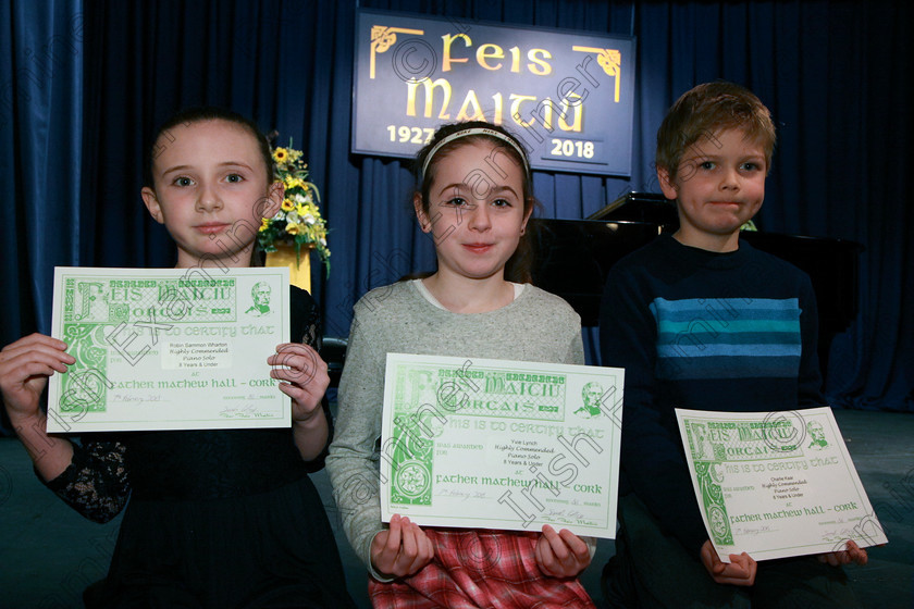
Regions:
[[[371,602],[384,609],[595,609],[577,577],[544,575],[541,533],[424,529],[435,556],[416,575],[369,577]]]

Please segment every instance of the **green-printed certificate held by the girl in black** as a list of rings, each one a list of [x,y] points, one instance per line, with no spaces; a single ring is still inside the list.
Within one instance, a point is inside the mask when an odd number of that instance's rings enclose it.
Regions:
[[[49,432],[287,427],[288,269],[54,270]]]

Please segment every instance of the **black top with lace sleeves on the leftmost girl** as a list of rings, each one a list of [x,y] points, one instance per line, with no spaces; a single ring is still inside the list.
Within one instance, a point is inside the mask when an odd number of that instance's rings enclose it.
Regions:
[[[319,348],[317,304],[296,287],[291,322],[293,337]],[[330,424],[326,400],[323,408]],[[289,428],[92,434],[74,443],[70,467],[47,486],[86,518],[107,522],[131,494],[178,500],[252,495],[321,469],[325,455],[326,446],[302,461]]]

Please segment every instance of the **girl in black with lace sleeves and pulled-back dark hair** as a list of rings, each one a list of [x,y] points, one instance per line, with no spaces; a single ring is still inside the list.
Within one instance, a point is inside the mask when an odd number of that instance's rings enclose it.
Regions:
[[[249,266],[261,217],[283,200],[263,135],[219,109],[158,134],[143,199],[177,244],[177,268]],[[223,238],[224,237],[224,238]],[[108,577],[90,607],[353,607],[321,499],[308,477],[332,434],[311,296],[293,289],[292,337],[267,358],[292,398],[292,431],[46,433],[39,398],[74,359],[33,334],[0,351],[7,411],[46,484],[106,522],[128,497]],[[268,353],[264,353],[267,357]]]

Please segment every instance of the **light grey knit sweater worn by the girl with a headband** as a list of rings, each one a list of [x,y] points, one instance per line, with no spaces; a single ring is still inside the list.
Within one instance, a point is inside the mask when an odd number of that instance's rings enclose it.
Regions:
[[[376,442],[387,352],[584,363],[580,316],[531,285],[510,304],[485,313],[440,309],[412,282],[373,289],[356,303],[326,468],[346,536],[379,579],[370,548],[385,527]]]

